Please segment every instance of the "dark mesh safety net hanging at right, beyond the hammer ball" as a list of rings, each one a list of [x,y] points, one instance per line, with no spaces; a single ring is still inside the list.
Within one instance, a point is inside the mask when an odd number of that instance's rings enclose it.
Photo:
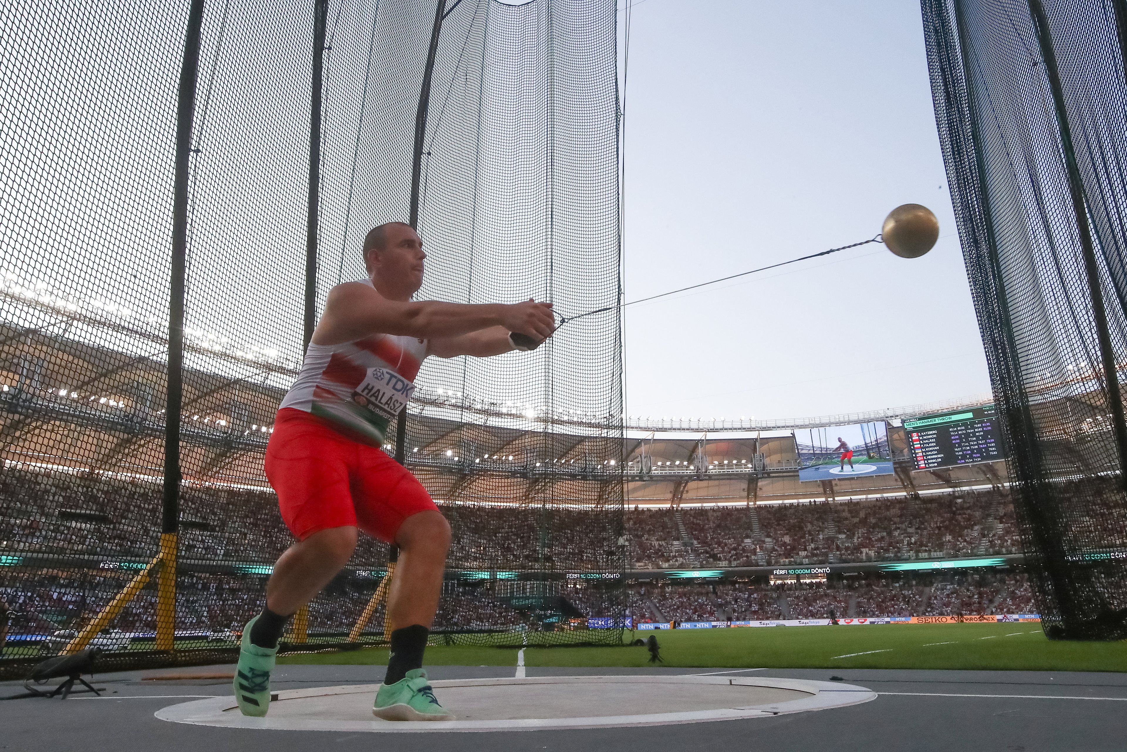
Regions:
[[[923,0],[967,273],[1050,637],[1127,637],[1127,15]]]

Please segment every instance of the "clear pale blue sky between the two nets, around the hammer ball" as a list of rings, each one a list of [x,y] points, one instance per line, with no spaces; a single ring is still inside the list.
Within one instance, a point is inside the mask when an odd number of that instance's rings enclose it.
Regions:
[[[802,417],[988,392],[919,5],[632,14],[628,301],[870,238],[908,202],[941,239],[919,259],[869,245],[625,309],[627,413]]]

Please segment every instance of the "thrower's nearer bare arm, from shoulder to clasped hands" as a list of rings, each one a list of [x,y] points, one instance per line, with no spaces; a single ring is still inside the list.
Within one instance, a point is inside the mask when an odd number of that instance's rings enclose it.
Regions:
[[[313,343],[336,345],[376,333],[438,339],[491,327],[547,338],[556,328],[552,304],[402,302],[388,300],[366,284],[348,282],[329,292]]]

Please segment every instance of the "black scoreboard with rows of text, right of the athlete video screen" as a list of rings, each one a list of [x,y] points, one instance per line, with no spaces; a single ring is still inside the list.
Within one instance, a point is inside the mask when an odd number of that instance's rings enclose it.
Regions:
[[[993,405],[904,421],[904,433],[917,470],[1005,457]]]

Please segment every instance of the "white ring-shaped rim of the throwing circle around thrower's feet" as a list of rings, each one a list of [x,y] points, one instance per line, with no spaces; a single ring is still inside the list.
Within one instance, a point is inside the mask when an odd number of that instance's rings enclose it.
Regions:
[[[765,689],[802,692],[806,697],[767,705],[724,707],[710,710],[684,713],[651,713],[619,716],[582,716],[574,718],[509,718],[446,722],[389,722],[380,718],[251,718],[236,710],[233,697],[215,697],[206,700],[180,702],[161,708],[156,715],[161,720],[219,726],[224,728],[265,728],[274,731],[335,731],[373,733],[419,733],[419,732],[497,732],[535,731],[550,728],[613,728],[623,726],[660,726],[667,724],[702,723],[710,720],[736,720],[767,718],[807,710],[825,710],[850,705],[859,705],[876,699],[877,695],[864,687],[838,682],[802,681],[796,679],[773,679],[770,676],[716,676],[716,675],[615,675],[615,676],[536,676],[530,679],[454,679],[431,682],[435,689],[503,685],[551,685],[551,684],[711,684],[730,687],[761,687]],[[274,702],[325,698],[336,695],[370,693],[374,697],[378,684],[348,684],[293,689],[277,692]],[[736,705],[736,704],[733,704]],[[456,711],[456,708],[454,708]]]

